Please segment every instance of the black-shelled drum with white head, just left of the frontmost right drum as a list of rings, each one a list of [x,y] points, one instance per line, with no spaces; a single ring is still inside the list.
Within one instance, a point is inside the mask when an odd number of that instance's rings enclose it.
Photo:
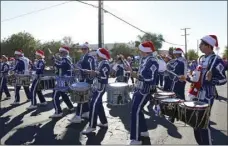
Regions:
[[[160,110],[162,115],[178,119],[177,106],[180,103],[180,99],[167,98],[160,101]]]

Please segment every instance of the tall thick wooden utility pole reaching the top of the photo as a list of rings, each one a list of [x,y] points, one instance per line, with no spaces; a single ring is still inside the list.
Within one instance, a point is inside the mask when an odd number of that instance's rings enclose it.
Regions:
[[[103,10],[103,1],[98,1],[98,47],[104,47],[104,10]]]

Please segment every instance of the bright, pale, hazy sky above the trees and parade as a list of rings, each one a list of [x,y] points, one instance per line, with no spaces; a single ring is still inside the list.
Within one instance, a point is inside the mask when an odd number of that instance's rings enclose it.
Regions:
[[[64,1],[1,1],[1,39],[26,31],[42,42],[72,37],[75,43],[98,42],[98,10],[69,2],[31,15],[4,21],[21,14],[46,8]],[[98,5],[97,1],[86,1]],[[220,53],[227,46],[227,1],[104,1],[104,9],[140,29],[160,33],[168,42],[184,45],[187,30],[188,49],[197,50],[197,40],[205,35],[218,37]],[[143,35],[139,30],[104,14],[104,42],[124,43]],[[162,49],[174,46],[163,43]]]

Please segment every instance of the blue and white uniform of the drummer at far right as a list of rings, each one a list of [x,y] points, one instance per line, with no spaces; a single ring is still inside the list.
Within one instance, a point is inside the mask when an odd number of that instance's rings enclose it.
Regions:
[[[215,64],[212,67],[212,79],[208,81],[206,79],[206,73],[211,68],[212,63],[215,59],[215,55],[211,54],[209,56],[204,56],[202,58],[202,87],[198,94],[199,101],[207,103],[210,107],[213,106],[214,99],[216,98],[216,88],[215,86],[224,85],[227,82],[226,74],[225,74],[225,65],[220,57],[218,57],[215,61]],[[190,78],[187,78],[190,81]],[[210,122],[209,122],[210,124]],[[194,129],[195,139],[200,145],[211,145],[211,132],[210,125],[207,129]]]

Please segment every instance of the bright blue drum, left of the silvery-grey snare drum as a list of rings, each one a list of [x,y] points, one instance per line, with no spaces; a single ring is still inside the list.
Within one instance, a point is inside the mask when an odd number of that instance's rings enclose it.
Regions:
[[[54,90],[66,92],[69,90],[69,86],[75,82],[75,77],[65,76],[56,77],[56,86]]]

